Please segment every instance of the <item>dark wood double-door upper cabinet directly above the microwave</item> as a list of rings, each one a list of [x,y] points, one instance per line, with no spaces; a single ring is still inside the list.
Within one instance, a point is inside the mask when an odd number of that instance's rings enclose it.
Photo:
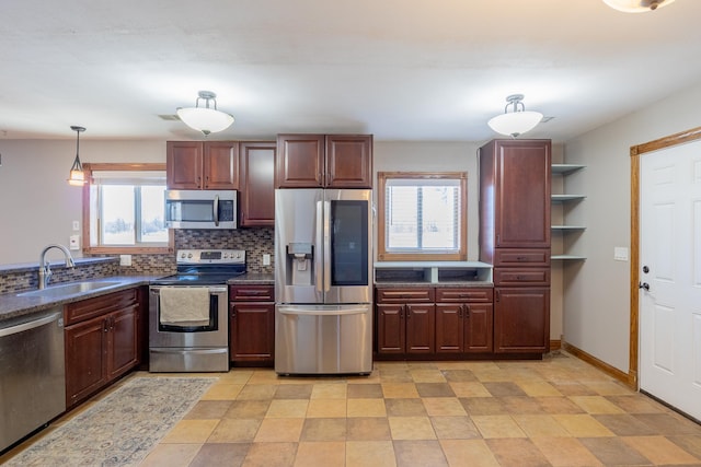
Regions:
[[[168,141],[169,189],[239,189],[237,141]]]

